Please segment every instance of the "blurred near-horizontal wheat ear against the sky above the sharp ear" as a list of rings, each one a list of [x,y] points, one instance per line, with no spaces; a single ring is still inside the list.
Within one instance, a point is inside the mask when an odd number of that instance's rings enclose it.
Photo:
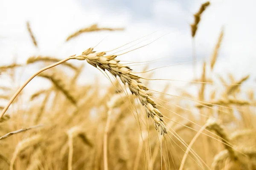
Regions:
[[[108,31],[116,31],[116,30],[124,30],[124,28],[99,28],[97,24],[93,24],[87,28],[80,29],[77,32],[74,32],[73,34],[69,35],[66,39],[66,41],[70,40],[73,37],[76,37],[84,32],[95,32],[95,31],[102,31],[102,30],[108,30]]]

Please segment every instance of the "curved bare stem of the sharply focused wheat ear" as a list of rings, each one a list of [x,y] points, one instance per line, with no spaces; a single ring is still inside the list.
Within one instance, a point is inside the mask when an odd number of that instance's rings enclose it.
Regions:
[[[72,56],[71,56],[72,57]],[[3,117],[3,115],[5,114],[5,112],[7,111],[7,109],[10,107],[10,105],[12,104],[12,102],[15,100],[15,98],[17,97],[17,95],[21,92],[21,90],[33,79],[35,78],[35,76],[37,76],[38,74],[40,74],[41,72],[47,70],[47,69],[50,69],[54,66],[57,66],[61,63],[64,63],[70,59],[72,59],[71,57],[69,58],[66,58],[66,59],[63,59],[57,63],[54,63],[52,65],[49,65],[47,67],[44,67],[43,69],[39,70],[38,72],[36,72],[34,75],[32,75],[18,90],[17,92],[12,96],[12,98],[10,99],[10,101],[8,102],[7,106],[3,109],[2,113],[1,113],[1,116],[0,116],[0,119]]]

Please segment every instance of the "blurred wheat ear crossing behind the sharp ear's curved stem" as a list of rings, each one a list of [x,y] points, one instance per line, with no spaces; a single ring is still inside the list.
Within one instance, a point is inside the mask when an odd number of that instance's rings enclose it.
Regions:
[[[26,61],[26,63],[27,63],[27,64],[31,64],[31,63],[35,63],[35,62],[39,62],[39,61],[44,61],[44,62],[45,62],[45,61],[48,61],[48,62],[54,62],[54,63],[56,63],[56,62],[58,62],[58,61],[60,61],[60,60],[59,60],[58,58],[53,58],[53,57],[38,55],[37,57],[36,57],[36,56],[32,56],[32,57],[28,58],[27,61]],[[70,67],[71,69],[73,69],[73,70],[75,70],[75,71],[78,69],[76,66],[74,66],[74,65],[71,64],[71,63],[65,62],[65,63],[63,63],[62,65],[68,66],[68,67]]]

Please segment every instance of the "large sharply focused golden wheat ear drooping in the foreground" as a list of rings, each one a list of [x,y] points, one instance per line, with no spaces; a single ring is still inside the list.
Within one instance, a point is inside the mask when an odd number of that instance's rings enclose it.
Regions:
[[[86,60],[87,63],[97,68],[97,66],[103,71],[108,70],[113,76],[118,76],[122,83],[128,84],[128,87],[132,94],[135,94],[140,103],[145,107],[148,117],[151,116],[154,120],[154,126],[156,130],[161,134],[167,133],[166,127],[163,123],[163,115],[157,109],[154,100],[150,97],[148,88],[142,84],[140,77],[132,73],[132,69],[125,64],[120,64],[119,60],[116,60],[116,55],[106,55],[105,52],[96,53],[93,48],[87,49],[79,56],[74,56],[71,59]]]

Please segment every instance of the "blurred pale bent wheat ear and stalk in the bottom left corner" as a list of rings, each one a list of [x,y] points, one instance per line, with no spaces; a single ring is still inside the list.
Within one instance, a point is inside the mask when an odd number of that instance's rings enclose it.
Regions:
[[[38,134],[38,135],[34,135],[30,138],[26,138],[26,139],[20,141],[17,144],[15,151],[13,153],[13,156],[12,156],[12,159],[10,162],[10,170],[13,170],[15,159],[19,155],[20,152],[22,152],[29,146],[33,146],[33,145],[37,144],[41,140],[42,140],[42,136]]]

